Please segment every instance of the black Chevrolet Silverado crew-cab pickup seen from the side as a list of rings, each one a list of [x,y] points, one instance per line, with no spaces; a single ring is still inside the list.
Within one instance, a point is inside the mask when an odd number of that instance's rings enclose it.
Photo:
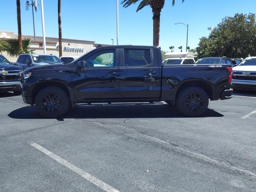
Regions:
[[[231,65],[163,65],[153,46],[99,47],[69,64],[28,68],[24,78],[24,102],[47,118],[78,103],[159,101],[199,116],[209,99],[229,99],[233,91]]]

